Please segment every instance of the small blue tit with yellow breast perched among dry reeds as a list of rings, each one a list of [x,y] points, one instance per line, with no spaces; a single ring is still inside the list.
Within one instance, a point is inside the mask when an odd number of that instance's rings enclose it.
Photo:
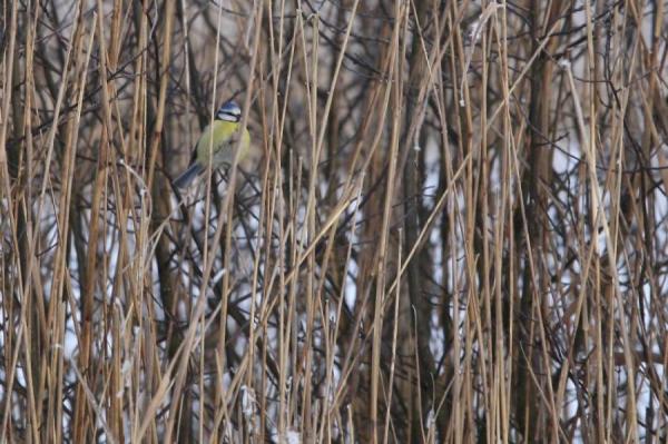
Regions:
[[[199,136],[190,166],[176,178],[174,185],[178,188],[187,187],[193,179],[206,171],[209,165],[212,168],[232,165],[239,137],[239,160],[243,160],[250,150],[250,135],[247,129],[240,134],[240,120],[242,108],[235,101],[228,100],[223,103],[216,111],[214,122]]]

